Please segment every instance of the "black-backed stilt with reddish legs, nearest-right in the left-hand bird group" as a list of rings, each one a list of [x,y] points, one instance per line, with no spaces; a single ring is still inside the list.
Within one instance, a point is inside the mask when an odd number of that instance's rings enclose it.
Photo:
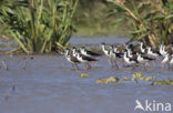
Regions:
[[[79,53],[79,52],[77,53],[77,59],[78,59],[80,62],[82,62],[82,63],[86,63],[86,64],[88,64],[88,66],[86,66],[88,70],[91,69],[91,65],[90,65],[89,62],[98,61],[96,59],[82,55],[82,54]]]

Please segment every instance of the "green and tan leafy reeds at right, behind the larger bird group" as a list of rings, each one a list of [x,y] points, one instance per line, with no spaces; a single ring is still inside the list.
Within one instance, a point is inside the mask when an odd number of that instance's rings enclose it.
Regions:
[[[132,29],[131,41],[143,40],[153,48],[171,43],[173,37],[172,0],[106,0],[113,3],[110,16],[116,21],[129,21]],[[172,40],[173,41],[173,40]]]

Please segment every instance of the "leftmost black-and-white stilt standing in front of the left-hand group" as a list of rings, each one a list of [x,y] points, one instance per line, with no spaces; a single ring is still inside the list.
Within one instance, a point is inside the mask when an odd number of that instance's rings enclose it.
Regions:
[[[81,62],[75,56],[70,55],[70,50],[69,49],[64,50],[64,56],[70,63],[72,63],[72,65],[74,66],[74,70],[78,70],[77,64],[81,63]]]

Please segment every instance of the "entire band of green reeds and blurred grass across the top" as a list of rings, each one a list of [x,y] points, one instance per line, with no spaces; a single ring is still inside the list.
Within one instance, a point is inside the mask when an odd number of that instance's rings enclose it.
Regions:
[[[1,0],[0,25],[0,35],[27,53],[65,48],[74,31],[77,37],[131,34],[131,41],[156,48],[173,42],[173,1]]]

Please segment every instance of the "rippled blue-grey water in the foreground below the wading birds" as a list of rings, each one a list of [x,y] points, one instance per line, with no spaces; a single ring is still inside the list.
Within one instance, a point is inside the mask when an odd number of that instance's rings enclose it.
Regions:
[[[110,69],[104,56],[98,69],[73,71],[63,56],[1,55],[9,68],[0,68],[0,113],[140,113],[134,111],[135,100],[171,103],[173,86],[150,85],[150,82],[124,82],[96,84],[95,80],[105,76],[131,76],[133,71]],[[1,64],[2,65],[2,64]],[[84,65],[80,65],[83,68]],[[172,78],[173,71],[142,71],[156,79]],[[88,78],[80,78],[88,73]],[[172,111],[173,112],[173,111]],[[169,113],[172,113],[169,112]],[[155,112],[165,113],[165,112]]]

